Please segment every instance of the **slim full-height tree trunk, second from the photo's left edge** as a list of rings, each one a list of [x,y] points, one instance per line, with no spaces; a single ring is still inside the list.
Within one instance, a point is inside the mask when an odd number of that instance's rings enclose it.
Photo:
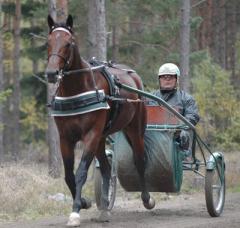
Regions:
[[[16,0],[16,11],[14,16],[14,55],[13,55],[13,141],[12,156],[14,160],[18,159],[20,150],[20,21],[21,21],[21,1]]]

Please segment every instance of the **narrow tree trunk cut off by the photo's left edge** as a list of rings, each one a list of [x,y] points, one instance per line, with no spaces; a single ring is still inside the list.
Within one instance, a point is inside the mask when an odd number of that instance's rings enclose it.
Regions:
[[[2,3],[0,1],[0,11],[2,11]],[[2,17],[0,17],[0,92],[3,91],[3,40],[2,40]],[[0,103],[0,164],[4,161],[3,147],[3,107]]]

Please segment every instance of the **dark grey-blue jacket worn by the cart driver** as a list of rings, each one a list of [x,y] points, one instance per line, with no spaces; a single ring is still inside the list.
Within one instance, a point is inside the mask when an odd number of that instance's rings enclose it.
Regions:
[[[153,95],[162,98],[171,106],[178,109],[179,113],[182,114],[188,121],[193,125],[196,125],[199,121],[199,114],[197,104],[194,98],[185,91],[182,90],[172,90],[161,92],[156,90],[152,93]],[[149,105],[158,105],[156,101],[149,101]]]

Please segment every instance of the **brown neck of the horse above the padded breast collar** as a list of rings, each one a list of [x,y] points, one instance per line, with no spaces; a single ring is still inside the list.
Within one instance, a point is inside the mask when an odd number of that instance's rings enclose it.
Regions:
[[[89,67],[87,61],[81,58],[78,49],[75,48],[73,62],[69,70],[80,70]],[[59,95],[73,96],[91,90],[94,90],[94,83],[90,72],[76,73],[64,77],[59,88]]]

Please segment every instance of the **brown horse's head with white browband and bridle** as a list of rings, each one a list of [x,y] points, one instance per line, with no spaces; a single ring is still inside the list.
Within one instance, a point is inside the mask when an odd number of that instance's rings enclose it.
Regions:
[[[56,23],[48,16],[48,63],[46,77],[48,82],[55,83],[69,69],[73,61],[74,38],[72,36],[73,19],[69,15],[66,23]]]

